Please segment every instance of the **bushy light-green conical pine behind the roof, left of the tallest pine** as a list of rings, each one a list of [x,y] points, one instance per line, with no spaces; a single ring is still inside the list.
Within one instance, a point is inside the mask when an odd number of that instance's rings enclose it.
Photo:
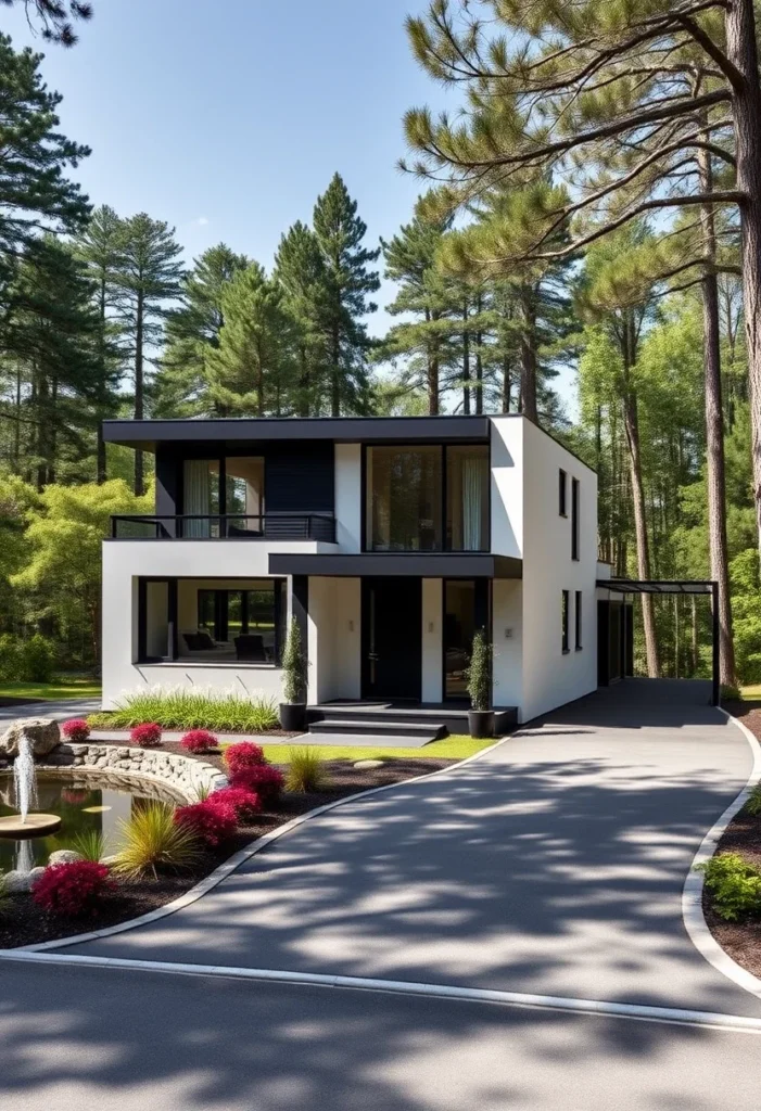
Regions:
[[[219,348],[209,357],[209,392],[218,411],[283,416],[291,336],[280,288],[253,262],[224,290],[222,313]]]

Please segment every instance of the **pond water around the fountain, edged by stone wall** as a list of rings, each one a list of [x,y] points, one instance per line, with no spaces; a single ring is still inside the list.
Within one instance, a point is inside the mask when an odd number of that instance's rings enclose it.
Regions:
[[[147,801],[160,799],[177,804],[169,792],[151,785],[130,784],[109,775],[108,785],[97,775],[59,775],[41,773],[37,782],[38,802],[34,810],[59,814],[61,828],[50,837],[28,841],[0,838],[0,872],[16,868],[47,864],[48,857],[57,849],[76,849],[77,837],[89,830],[101,832],[106,840],[106,854],[121,848],[120,825]],[[13,781],[0,777],[0,817],[16,813]]]

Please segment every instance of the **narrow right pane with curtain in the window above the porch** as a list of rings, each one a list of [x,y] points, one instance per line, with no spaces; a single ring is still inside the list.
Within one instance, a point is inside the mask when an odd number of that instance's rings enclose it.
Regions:
[[[489,549],[489,448],[447,448],[447,548],[478,552]]]

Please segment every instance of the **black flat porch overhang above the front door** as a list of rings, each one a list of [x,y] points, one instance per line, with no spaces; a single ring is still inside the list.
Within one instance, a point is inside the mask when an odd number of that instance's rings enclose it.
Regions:
[[[361,579],[522,579],[523,561],[481,552],[271,552],[270,574]]]

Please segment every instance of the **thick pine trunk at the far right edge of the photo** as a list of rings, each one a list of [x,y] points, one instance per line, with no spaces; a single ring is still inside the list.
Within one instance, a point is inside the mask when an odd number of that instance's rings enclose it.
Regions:
[[[740,204],[742,293],[748,344],[748,393],[753,454],[755,521],[761,550],[761,88],[753,0],[731,0],[727,7],[727,53],[742,76],[732,86],[734,148]]]

